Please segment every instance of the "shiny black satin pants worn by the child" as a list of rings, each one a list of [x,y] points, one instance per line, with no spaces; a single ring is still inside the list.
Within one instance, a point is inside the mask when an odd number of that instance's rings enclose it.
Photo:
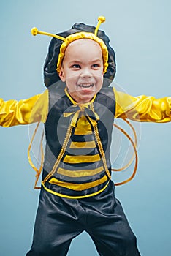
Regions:
[[[140,256],[136,238],[115,199],[111,181],[99,195],[66,199],[42,189],[34,241],[26,256],[65,256],[73,238],[86,230],[101,256]]]

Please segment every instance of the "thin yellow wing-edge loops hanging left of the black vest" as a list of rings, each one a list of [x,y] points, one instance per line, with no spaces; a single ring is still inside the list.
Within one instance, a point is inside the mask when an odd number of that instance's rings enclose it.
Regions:
[[[40,163],[40,167],[39,169],[37,169],[37,167],[35,167],[35,165],[33,164],[32,160],[31,160],[31,156],[30,156],[30,151],[31,151],[31,145],[33,143],[33,140],[35,138],[35,135],[37,133],[37,129],[39,128],[39,124],[40,122],[37,124],[37,127],[36,129],[34,130],[34,134],[32,135],[32,138],[31,138],[31,141],[30,141],[30,144],[28,146],[28,162],[29,164],[31,165],[31,167],[36,171],[36,181],[35,181],[35,184],[34,184],[34,189],[40,189],[40,187],[37,187],[37,182],[39,180],[39,176],[42,172],[42,167],[43,167],[43,162],[44,162],[44,154],[43,154],[43,146],[42,146],[42,141],[43,141],[43,136],[44,136],[44,131],[42,132],[42,137],[41,137],[41,143],[40,143],[40,148],[41,148],[41,163]]]

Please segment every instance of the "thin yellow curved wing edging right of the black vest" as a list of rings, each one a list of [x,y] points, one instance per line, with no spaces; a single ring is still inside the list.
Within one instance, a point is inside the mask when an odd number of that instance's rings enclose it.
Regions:
[[[130,124],[130,123],[129,123]],[[129,165],[131,165],[133,159],[135,159],[135,162],[134,162],[134,170],[133,170],[133,173],[132,173],[132,176],[130,176],[129,178],[127,178],[125,181],[121,181],[121,182],[118,182],[118,183],[115,183],[115,186],[119,186],[119,185],[123,185],[123,184],[126,184],[127,182],[131,181],[132,178],[134,178],[135,174],[136,174],[136,171],[137,171],[137,162],[138,162],[138,157],[137,157],[137,148],[136,148],[136,145],[134,143],[134,141],[132,140],[132,138],[127,134],[127,132],[125,132],[121,127],[118,127],[117,124],[113,124],[116,128],[118,128],[121,132],[123,132],[124,135],[126,135],[126,137],[130,140],[130,142],[132,143],[132,146],[134,148],[134,155],[132,157],[132,159],[129,161],[129,163],[124,167],[128,167]],[[130,127],[132,127],[130,125]],[[134,129],[133,129],[134,130]],[[115,169],[112,169],[114,171],[118,171],[118,170],[115,170]],[[121,168],[121,170],[123,170],[123,168]]]

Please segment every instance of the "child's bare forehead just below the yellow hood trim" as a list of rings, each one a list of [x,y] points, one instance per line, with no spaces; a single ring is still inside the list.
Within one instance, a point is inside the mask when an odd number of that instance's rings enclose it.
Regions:
[[[65,57],[80,56],[81,53],[102,57],[102,48],[92,39],[77,39],[67,46]]]

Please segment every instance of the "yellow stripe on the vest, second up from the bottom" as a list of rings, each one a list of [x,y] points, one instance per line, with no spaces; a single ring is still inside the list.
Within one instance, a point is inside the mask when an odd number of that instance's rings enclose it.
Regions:
[[[76,171],[58,168],[58,173],[64,176],[69,176],[69,177],[85,177],[85,176],[93,176],[97,173],[102,172],[102,170],[104,170],[102,166],[94,170],[76,170]]]

